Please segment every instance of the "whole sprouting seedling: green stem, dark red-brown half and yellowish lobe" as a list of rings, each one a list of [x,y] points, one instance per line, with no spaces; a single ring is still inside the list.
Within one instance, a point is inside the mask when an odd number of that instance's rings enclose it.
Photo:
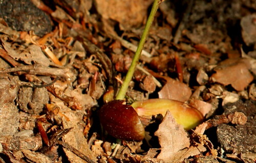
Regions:
[[[190,107],[179,101],[151,99],[138,101],[132,105],[127,105],[125,101],[123,101],[139,61],[148,31],[161,2],[161,0],[155,0],[153,4],[152,11],[147,19],[132,64],[125,76],[116,99],[105,103],[99,111],[99,118],[103,128],[117,139],[127,141],[141,141],[144,139],[144,126],[142,125],[139,116],[143,117],[157,114],[162,114],[164,116],[166,111],[169,110],[176,121],[183,125],[185,129],[194,128],[203,120],[202,114],[196,108]]]

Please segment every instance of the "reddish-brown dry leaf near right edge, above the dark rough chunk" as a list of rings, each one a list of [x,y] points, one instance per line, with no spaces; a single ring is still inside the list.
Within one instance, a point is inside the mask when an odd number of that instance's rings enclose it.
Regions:
[[[253,76],[242,62],[217,66],[216,73],[211,75],[212,81],[225,86],[231,85],[237,91],[243,91],[253,80]]]

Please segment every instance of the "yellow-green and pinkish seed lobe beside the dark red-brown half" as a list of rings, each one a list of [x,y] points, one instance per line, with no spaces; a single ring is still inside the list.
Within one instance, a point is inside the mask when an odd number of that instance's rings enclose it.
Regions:
[[[137,101],[132,104],[140,117],[152,115],[165,115],[169,111],[174,116],[176,122],[185,129],[191,129],[199,125],[203,120],[203,115],[194,107],[180,101],[170,99],[148,99]]]

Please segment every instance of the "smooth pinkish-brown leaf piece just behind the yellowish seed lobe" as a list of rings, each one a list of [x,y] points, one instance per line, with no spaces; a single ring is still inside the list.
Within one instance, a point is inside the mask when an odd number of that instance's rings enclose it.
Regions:
[[[173,99],[185,102],[189,99],[192,92],[190,88],[175,79],[167,78],[167,83],[163,86],[161,91],[158,92],[159,98]]]

